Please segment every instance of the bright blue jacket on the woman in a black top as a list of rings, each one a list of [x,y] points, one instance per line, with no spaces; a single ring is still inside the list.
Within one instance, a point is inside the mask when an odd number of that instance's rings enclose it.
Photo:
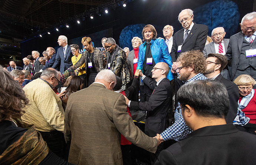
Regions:
[[[152,39],[150,43],[151,43],[150,50],[151,50],[153,60],[155,61],[155,64],[159,62],[164,62],[168,64],[170,71],[167,75],[167,78],[170,81],[173,80],[173,74],[171,73],[171,65],[173,65],[173,63],[171,61],[171,57],[168,52],[168,47],[165,41],[163,39],[156,38],[156,39]],[[139,53],[138,53],[137,69],[142,70],[142,72],[143,72],[143,63],[145,60],[145,53],[146,53],[146,42],[144,42],[139,46]]]

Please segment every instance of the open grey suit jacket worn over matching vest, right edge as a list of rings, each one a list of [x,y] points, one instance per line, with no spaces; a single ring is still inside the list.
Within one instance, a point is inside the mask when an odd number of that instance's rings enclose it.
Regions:
[[[232,59],[232,69],[231,69],[231,76],[230,76],[230,79],[233,81],[233,78],[234,78],[234,75],[236,73],[236,70],[237,70],[237,65],[238,63],[243,63],[243,62],[246,62],[246,61],[240,61],[240,54],[241,54],[241,51],[242,51],[242,44],[243,44],[243,38],[244,38],[244,35],[241,32],[237,33],[237,34],[234,34],[233,36],[230,37],[230,40],[229,40],[229,45],[227,47],[227,51],[226,51],[226,57],[227,57],[227,60],[231,60]],[[255,58],[256,57],[251,57],[252,60],[255,61]],[[256,68],[256,63],[252,62],[252,65],[254,68]],[[249,67],[249,65],[248,65]]]

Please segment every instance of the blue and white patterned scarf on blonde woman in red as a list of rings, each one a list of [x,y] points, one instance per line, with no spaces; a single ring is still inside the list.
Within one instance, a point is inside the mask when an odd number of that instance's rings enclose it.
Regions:
[[[236,114],[236,118],[233,121],[234,125],[246,125],[250,118],[246,117],[244,112],[242,111],[247,105],[248,103],[252,100],[253,96],[254,96],[254,89],[251,90],[251,92],[249,94],[247,94],[246,96],[244,96],[242,98],[242,100],[240,101],[239,104],[239,100],[237,102],[238,107],[237,107],[237,114]]]

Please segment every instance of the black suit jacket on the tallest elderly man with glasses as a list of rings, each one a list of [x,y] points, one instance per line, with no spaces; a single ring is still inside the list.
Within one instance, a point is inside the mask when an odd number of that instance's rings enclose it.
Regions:
[[[175,62],[180,53],[190,50],[203,51],[207,39],[208,27],[206,25],[196,24],[192,27],[186,40],[183,43],[184,28],[177,31],[173,36],[173,47],[171,49],[171,60]],[[182,45],[181,51],[178,46]]]

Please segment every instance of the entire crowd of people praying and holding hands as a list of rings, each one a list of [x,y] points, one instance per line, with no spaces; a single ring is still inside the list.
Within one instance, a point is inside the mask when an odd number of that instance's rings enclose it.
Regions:
[[[165,39],[146,25],[132,51],[59,36],[57,53],[0,68],[0,164],[255,164],[256,12],[230,39],[193,19]]]

